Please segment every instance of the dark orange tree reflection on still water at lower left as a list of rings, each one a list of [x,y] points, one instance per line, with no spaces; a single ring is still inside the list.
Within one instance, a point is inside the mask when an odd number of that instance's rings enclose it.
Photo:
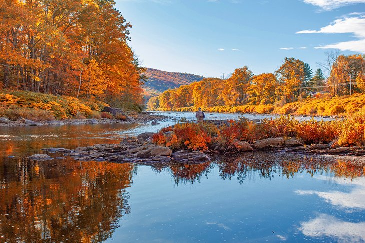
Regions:
[[[133,165],[0,163],[0,233],[8,242],[100,242],[130,212]]]

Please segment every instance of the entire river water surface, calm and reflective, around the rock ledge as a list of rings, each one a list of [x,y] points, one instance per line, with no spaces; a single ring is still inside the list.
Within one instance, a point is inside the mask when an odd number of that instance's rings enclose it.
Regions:
[[[160,125],[0,127],[0,243],[365,242],[358,159],[246,153],[146,166],[26,158],[46,147],[117,143],[193,117],[162,114]]]

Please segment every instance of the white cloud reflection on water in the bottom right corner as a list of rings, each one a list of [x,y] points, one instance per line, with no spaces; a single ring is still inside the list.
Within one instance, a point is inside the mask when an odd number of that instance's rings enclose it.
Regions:
[[[309,237],[332,237],[343,243],[365,241],[365,222],[342,221],[327,214],[302,222],[298,229]]]

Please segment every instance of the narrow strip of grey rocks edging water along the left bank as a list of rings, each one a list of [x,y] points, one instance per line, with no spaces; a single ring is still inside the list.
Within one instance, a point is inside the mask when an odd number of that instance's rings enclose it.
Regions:
[[[79,124],[127,124],[127,123],[147,123],[157,124],[158,121],[166,119],[165,116],[155,114],[152,112],[142,112],[137,115],[129,116],[125,115],[124,120],[120,119],[65,119],[65,120],[52,120],[52,121],[32,121],[28,119],[18,119],[11,121],[6,117],[0,117],[0,127],[14,127],[14,126],[61,126],[61,125],[79,125]]]

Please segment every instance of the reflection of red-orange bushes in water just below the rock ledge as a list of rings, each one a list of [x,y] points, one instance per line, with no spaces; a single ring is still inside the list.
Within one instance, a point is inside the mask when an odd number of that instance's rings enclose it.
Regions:
[[[213,162],[203,164],[152,164],[153,170],[157,173],[170,171],[176,185],[200,182],[202,176],[208,178],[212,168],[219,168],[219,175],[223,180],[237,178],[242,184],[246,179],[254,180],[267,178],[272,180],[274,176],[292,178],[297,173],[323,175],[333,173],[335,177],[355,178],[365,174],[365,167],[360,163],[334,160],[331,157],[307,157],[288,156],[279,153],[250,153],[239,156],[222,156]]]

